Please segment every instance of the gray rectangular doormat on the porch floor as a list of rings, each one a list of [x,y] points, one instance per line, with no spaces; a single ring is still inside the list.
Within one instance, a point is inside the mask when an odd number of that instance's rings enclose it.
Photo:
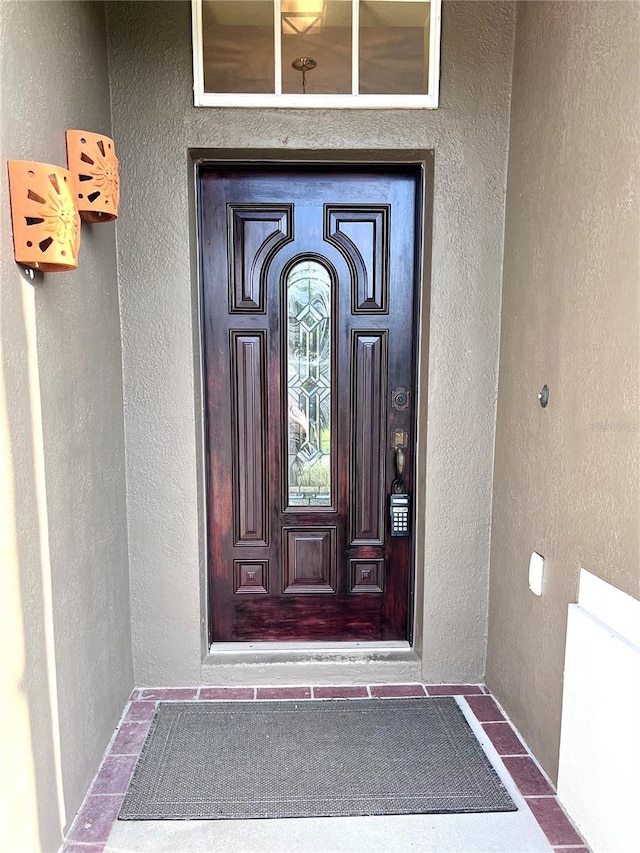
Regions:
[[[451,698],[170,702],[120,820],[515,810]]]

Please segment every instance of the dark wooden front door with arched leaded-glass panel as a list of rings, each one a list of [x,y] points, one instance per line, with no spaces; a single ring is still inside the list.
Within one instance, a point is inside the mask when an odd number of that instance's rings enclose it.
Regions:
[[[417,186],[201,168],[212,641],[408,637]]]

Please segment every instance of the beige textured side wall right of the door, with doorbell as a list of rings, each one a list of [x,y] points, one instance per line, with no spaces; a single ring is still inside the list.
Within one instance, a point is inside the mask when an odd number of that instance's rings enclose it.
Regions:
[[[518,4],[487,683],[552,777],[579,568],[640,597],[639,186],[640,4]]]

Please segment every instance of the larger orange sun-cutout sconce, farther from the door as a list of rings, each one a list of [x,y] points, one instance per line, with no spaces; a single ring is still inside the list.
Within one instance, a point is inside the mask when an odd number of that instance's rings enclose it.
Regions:
[[[69,172],[28,160],[8,166],[16,261],[43,272],[76,269],[80,217]]]

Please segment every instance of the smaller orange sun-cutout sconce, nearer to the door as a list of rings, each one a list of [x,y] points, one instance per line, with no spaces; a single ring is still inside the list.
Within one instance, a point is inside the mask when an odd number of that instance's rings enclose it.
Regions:
[[[85,222],[117,219],[120,184],[113,139],[101,133],[68,130],[67,160],[82,219]]]

